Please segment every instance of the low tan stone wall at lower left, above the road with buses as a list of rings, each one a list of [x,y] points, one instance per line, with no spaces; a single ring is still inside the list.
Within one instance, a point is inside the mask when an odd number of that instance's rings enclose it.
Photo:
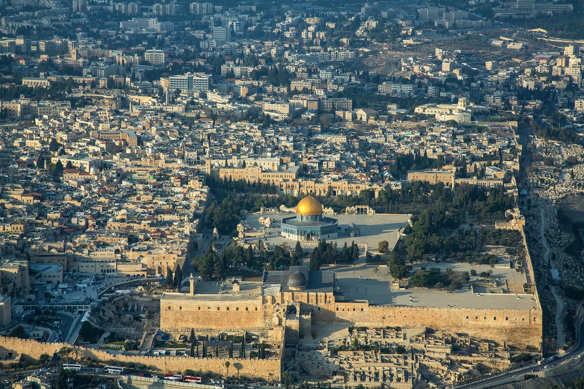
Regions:
[[[30,339],[0,337],[0,356],[8,352],[23,354],[30,358],[39,359],[40,355],[47,353],[53,355],[62,347],[71,345],[66,343],[42,343]],[[184,356],[129,356],[112,355],[105,351],[73,347],[71,358],[81,360],[83,357],[99,359],[103,363],[143,363],[147,369],[161,373],[184,372],[186,369],[203,372],[215,372],[225,374],[225,361],[230,361],[230,376],[262,377],[267,381],[280,381],[280,358],[274,359],[241,359],[241,358],[185,358]]]

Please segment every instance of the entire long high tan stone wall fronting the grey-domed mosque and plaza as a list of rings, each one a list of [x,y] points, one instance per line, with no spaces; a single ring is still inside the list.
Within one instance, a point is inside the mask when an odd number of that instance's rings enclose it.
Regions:
[[[177,293],[165,295],[177,296],[161,299],[164,330],[286,326],[290,320],[286,315],[288,307],[300,303],[301,311],[310,312],[311,323],[345,321],[347,325],[372,328],[429,327],[535,349],[540,348],[543,335],[541,310],[375,306],[366,301],[335,302],[333,293],[317,292],[238,296],[238,300],[218,300],[214,295],[183,295],[184,299]],[[310,333],[310,329],[304,328],[303,332]]]

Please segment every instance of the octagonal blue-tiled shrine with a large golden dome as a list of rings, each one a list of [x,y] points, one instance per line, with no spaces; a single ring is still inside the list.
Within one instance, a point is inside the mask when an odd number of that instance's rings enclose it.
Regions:
[[[336,219],[322,216],[322,205],[312,196],[298,202],[296,216],[282,219],[280,236],[299,241],[319,241],[338,237]]]

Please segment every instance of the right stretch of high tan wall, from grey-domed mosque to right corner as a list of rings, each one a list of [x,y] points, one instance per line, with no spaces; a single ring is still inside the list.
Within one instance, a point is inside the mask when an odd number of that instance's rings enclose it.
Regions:
[[[444,307],[368,306],[337,303],[337,320],[364,327],[429,327],[464,332],[472,337],[505,342],[519,348],[541,346],[541,310]]]

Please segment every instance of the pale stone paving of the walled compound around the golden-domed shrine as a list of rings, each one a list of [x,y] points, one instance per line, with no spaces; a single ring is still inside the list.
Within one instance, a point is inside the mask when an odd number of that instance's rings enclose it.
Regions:
[[[282,218],[294,215],[293,213],[255,213],[247,215],[246,226],[251,229],[255,237],[246,236],[248,243],[254,244],[259,239],[267,244],[270,249],[280,244],[287,244],[290,247],[296,245],[296,240],[285,239],[279,236],[279,225]],[[270,217],[272,227],[264,228],[259,218]],[[376,214],[376,215],[338,215],[331,216],[339,223],[339,237],[329,239],[328,242],[336,242],[338,247],[342,247],[345,242],[350,245],[353,241],[357,244],[367,246],[367,250],[377,254],[377,244],[382,240],[387,240],[390,248],[395,246],[398,240],[400,227],[405,227],[409,215]],[[345,228],[354,223],[360,229],[360,236],[345,236]],[[314,247],[317,242],[301,242],[303,247]],[[361,247],[363,248],[363,247]],[[308,259],[305,258],[308,265]],[[446,269],[454,271],[475,270],[477,274],[484,271],[491,271],[490,277],[493,280],[492,286],[475,286],[474,293],[465,286],[463,289],[449,293],[446,290],[415,289],[409,286],[408,289],[399,289],[395,285],[390,285],[389,270],[385,265],[367,265],[366,258],[361,255],[359,261],[353,265],[323,265],[323,270],[333,270],[336,272],[336,288],[342,293],[339,300],[347,301],[367,300],[370,304],[385,305],[395,304],[401,306],[430,306],[430,307],[465,307],[465,308],[501,308],[501,309],[533,309],[537,307],[537,302],[533,296],[523,293],[523,283],[526,277],[523,272],[517,271],[515,263],[501,263],[497,267],[490,265],[471,265],[466,262],[419,262],[413,265],[413,272],[420,268],[431,267],[440,268],[444,272]],[[412,272],[412,274],[413,274]],[[479,276],[471,276],[471,281],[480,280]],[[245,284],[244,284],[245,285]],[[248,285],[245,293],[253,293],[259,285]],[[218,292],[214,289],[223,289],[222,293],[229,293],[227,288],[220,285],[211,286],[209,292]],[[242,289],[244,289],[242,287]],[[489,290],[491,289],[491,290]],[[503,293],[496,293],[497,291]],[[520,292],[517,293],[516,292]],[[242,293],[243,290],[242,290]]]

